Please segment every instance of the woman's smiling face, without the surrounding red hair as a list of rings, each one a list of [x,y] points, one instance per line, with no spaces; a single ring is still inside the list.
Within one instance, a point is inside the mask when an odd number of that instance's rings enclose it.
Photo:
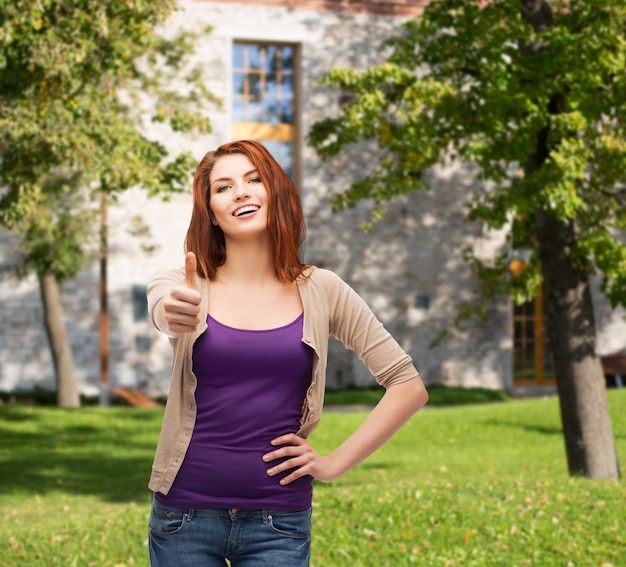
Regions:
[[[250,236],[267,230],[268,194],[259,172],[244,154],[218,158],[209,186],[211,222],[226,237]]]

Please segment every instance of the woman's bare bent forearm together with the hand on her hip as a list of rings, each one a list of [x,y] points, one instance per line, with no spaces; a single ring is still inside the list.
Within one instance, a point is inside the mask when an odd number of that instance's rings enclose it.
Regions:
[[[281,484],[289,484],[304,475],[330,482],[384,445],[427,401],[428,393],[419,376],[390,386],[361,426],[328,456],[319,455],[306,439],[297,435],[277,437],[272,444],[286,446],[267,453],[263,460],[290,458],[268,469],[267,474],[274,476],[295,469]]]

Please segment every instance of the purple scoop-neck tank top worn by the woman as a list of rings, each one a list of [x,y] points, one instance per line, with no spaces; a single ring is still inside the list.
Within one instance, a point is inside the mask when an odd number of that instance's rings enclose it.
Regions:
[[[304,316],[262,331],[235,329],[210,315],[193,348],[197,417],[174,484],[156,499],[176,508],[306,510],[312,477],[281,486],[267,476],[270,441],[300,427],[313,351],[302,342]]]

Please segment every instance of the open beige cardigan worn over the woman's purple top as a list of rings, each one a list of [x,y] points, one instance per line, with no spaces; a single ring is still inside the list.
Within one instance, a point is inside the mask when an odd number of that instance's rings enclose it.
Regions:
[[[313,376],[302,405],[298,435],[308,437],[317,426],[324,403],[328,337],[339,339],[363,360],[376,378],[388,388],[418,376],[411,358],[376,319],[367,304],[335,273],[311,267],[298,280],[304,307],[302,340],[315,352]],[[155,310],[170,289],[184,285],[184,269],[155,277],[148,286],[148,309],[153,323]],[[202,312],[207,312],[208,285],[198,278]],[[206,320],[195,333],[170,339],[173,362],[170,390],[163,417],[149,487],[167,494],[182,464],[196,421],[196,376],[192,371],[192,349],[206,329]]]

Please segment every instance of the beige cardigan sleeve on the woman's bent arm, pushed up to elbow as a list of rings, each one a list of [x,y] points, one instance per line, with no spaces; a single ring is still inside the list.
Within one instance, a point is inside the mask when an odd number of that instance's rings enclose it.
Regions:
[[[330,334],[353,350],[385,388],[419,376],[411,357],[367,303],[339,276],[328,270],[322,272],[326,281]]]

